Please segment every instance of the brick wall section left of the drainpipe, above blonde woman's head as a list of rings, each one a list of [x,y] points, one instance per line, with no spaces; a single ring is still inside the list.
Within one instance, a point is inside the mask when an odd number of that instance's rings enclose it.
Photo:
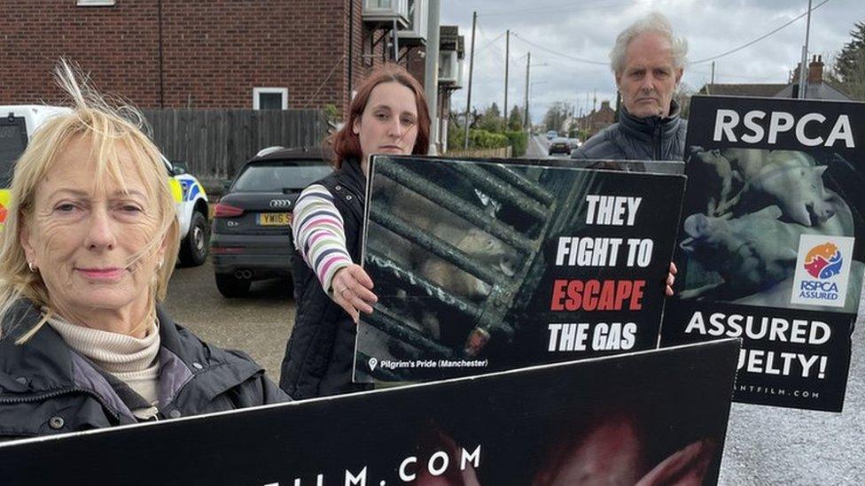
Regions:
[[[3,2],[0,42],[0,104],[58,102],[51,69],[61,56],[90,71],[99,89],[144,106],[159,102],[156,1],[98,8],[74,0]]]

